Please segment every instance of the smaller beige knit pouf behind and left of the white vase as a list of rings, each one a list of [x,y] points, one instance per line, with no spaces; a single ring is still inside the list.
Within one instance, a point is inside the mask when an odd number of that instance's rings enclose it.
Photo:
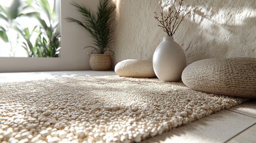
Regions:
[[[120,61],[115,66],[115,72],[119,76],[124,77],[144,77],[153,78],[156,74],[153,70],[152,61],[146,60],[124,60]]]

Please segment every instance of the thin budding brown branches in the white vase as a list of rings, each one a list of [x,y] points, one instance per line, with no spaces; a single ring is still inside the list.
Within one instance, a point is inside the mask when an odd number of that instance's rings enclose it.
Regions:
[[[181,8],[183,5],[183,0],[178,2],[178,4],[179,4],[179,7],[178,8],[175,7],[175,1],[174,1],[171,7],[168,8],[167,14],[164,14],[164,7],[166,5],[161,6],[162,11],[160,13],[160,16],[158,16],[158,14],[155,12],[155,18],[160,23],[158,26],[162,27],[164,32],[166,32],[167,36],[173,36],[176,30],[178,29],[178,26],[180,26],[180,23],[184,20],[186,15],[190,13],[190,12],[186,12],[185,14],[182,15],[181,13],[185,11],[183,8]]]

